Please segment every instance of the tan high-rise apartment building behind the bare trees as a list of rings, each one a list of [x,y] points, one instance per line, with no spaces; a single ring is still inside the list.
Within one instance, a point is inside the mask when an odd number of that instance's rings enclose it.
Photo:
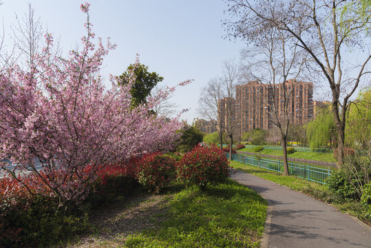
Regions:
[[[313,116],[313,83],[290,79],[285,85],[288,92],[293,90],[288,98],[288,114],[291,123],[300,125],[308,122]],[[278,115],[284,116],[283,90],[283,83],[276,85],[273,90],[271,85],[258,81],[251,81],[236,87],[235,111],[237,129],[240,134],[255,128],[268,130],[274,127],[271,122],[273,101],[278,108]]]

